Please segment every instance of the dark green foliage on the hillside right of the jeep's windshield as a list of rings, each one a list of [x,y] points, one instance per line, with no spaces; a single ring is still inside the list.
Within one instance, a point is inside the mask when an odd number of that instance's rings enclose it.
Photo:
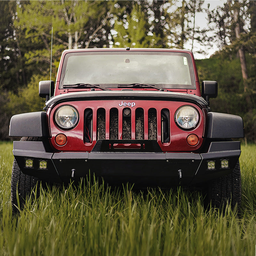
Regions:
[[[218,97],[210,99],[212,111],[242,116],[245,139],[256,142],[256,83],[252,72],[254,58],[247,55],[249,74],[248,91],[244,92],[240,61],[225,50],[207,60],[196,60],[200,83],[204,80],[218,82]]]

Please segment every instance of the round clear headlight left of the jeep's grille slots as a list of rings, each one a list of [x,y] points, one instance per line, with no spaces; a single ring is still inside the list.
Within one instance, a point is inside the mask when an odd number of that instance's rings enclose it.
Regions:
[[[78,112],[71,106],[62,106],[55,113],[55,121],[61,128],[71,128],[78,121]]]

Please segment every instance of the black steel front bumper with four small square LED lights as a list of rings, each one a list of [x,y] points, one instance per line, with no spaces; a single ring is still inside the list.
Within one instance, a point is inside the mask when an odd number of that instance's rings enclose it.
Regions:
[[[240,154],[239,141],[211,142],[205,153],[52,153],[46,152],[41,141],[13,142],[13,155],[21,171],[41,180],[77,181],[94,173],[112,185],[131,182],[138,187],[204,186],[210,180],[231,173]],[[33,160],[32,167],[25,166],[26,159]],[[226,169],[220,168],[223,159],[229,163]],[[39,168],[40,161],[47,162],[47,169]],[[207,169],[208,161],[215,161],[214,170]]]

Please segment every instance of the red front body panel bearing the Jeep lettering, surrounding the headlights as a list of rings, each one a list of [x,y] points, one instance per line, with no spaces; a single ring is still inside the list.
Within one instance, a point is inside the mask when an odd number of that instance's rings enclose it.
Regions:
[[[135,110],[136,108],[142,108],[144,110],[144,138],[148,139],[148,109],[155,108],[157,111],[157,120],[160,120],[161,109],[168,108],[170,110],[170,134],[171,140],[169,143],[161,142],[161,123],[157,122],[157,142],[164,152],[168,151],[195,151],[199,149],[203,143],[204,127],[205,127],[205,113],[195,104],[187,102],[176,102],[176,101],[153,101],[153,100],[133,100],[136,105],[130,108],[132,111],[132,140],[135,139]],[[128,102],[124,100],[124,102]],[[51,143],[53,147],[60,151],[91,151],[96,143],[96,125],[97,116],[96,113],[98,108],[104,108],[106,110],[106,138],[109,139],[109,110],[111,108],[118,109],[118,139],[122,139],[122,110],[123,106],[120,107],[118,104],[120,100],[103,100],[103,101],[72,101],[58,104],[55,106],[50,113],[50,131],[51,131]],[[62,105],[72,105],[80,113],[79,122],[75,128],[69,131],[61,130],[54,121],[55,111]],[[175,112],[178,108],[184,105],[190,105],[197,109],[199,113],[199,122],[193,130],[181,130],[174,120]],[[85,108],[91,108],[93,110],[93,125],[92,125],[92,143],[84,142],[84,110]],[[59,133],[63,133],[67,136],[68,141],[64,146],[58,146],[55,142],[55,137]],[[196,146],[189,146],[187,143],[187,137],[189,134],[196,134],[199,138],[199,142]]]

